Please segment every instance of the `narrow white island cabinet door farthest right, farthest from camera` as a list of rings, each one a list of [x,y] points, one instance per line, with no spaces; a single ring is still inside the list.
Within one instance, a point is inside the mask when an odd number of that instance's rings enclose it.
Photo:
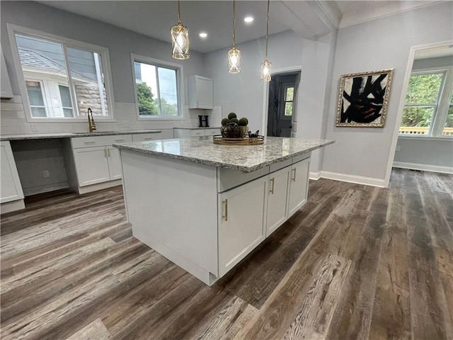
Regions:
[[[291,217],[306,203],[309,188],[309,165],[309,158],[292,164],[289,179],[288,217]]]

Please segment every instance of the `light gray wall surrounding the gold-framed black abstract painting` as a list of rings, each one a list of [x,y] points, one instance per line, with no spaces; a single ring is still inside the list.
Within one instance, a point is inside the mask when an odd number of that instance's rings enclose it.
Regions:
[[[443,3],[338,30],[323,171],[384,180],[411,46],[453,38],[452,4]],[[336,128],[341,74],[394,68],[384,128]]]

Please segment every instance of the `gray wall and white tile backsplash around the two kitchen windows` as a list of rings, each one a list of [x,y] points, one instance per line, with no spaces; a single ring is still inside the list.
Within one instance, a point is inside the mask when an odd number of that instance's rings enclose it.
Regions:
[[[193,74],[206,75],[204,57],[200,53],[190,51],[190,59],[182,62],[171,57],[170,26],[168,26],[168,42],[149,38],[130,30],[101,23],[56,8],[32,1],[1,1],[1,46],[6,59],[6,66],[15,98],[1,101],[1,134],[30,134],[49,132],[84,132],[88,129],[82,123],[34,123],[38,131],[32,131],[31,123],[25,120],[21,92],[18,86],[16,68],[13,64],[11,45],[6,30],[6,23],[13,23],[25,28],[32,28],[45,33],[59,35],[94,45],[108,47],[113,78],[113,94],[115,100],[115,123],[103,123],[96,120],[98,130],[142,130],[169,129],[180,126],[191,126],[194,120],[185,119],[183,125],[177,121],[144,121],[137,120],[134,98],[134,83],[130,54],[144,55],[157,60],[164,60],[183,65],[185,78],[184,98],[187,103],[187,77]],[[185,105],[185,118],[196,118],[199,114],[210,114],[205,110],[190,110]],[[6,118],[6,119],[3,119]]]

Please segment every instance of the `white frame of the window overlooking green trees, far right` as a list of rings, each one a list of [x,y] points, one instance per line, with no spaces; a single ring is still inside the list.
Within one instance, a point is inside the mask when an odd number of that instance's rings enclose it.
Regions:
[[[442,135],[444,130],[444,125],[447,120],[448,108],[449,108],[449,101],[452,96],[453,91],[453,66],[442,66],[442,67],[430,67],[426,69],[416,69],[411,72],[408,81],[411,79],[413,75],[419,74],[436,74],[436,73],[443,73],[444,76],[442,77],[442,84],[440,85],[439,94],[437,96],[437,102],[435,103],[435,110],[432,113],[432,122],[430,124],[430,128],[426,135],[411,135],[411,134],[404,134],[399,133],[398,130],[398,138],[406,138],[406,139],[430,139],[430,140],[452,140],[453,135]],[[406,89],[406,94],[407,94]],[[403,110],[406,107],[411,107],[413,105],[406,106],[406,94],[404,94],[404,103],[403,103]],[[420,105],[423,106],[423,105]],[[420,107],[419,106],[419,107]],[[404,112],[404,111],[403,111]],[[401,115],[401,120],[403,115]],[[401,122],[399,123],[401,128]]]

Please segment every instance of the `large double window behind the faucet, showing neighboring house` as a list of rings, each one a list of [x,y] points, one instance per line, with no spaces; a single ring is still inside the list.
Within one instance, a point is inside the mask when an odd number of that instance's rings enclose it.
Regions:
[[[104,47],[25,28],[11,32],[26,79],[30,118],[85,118],[88,107],[98,118],[112,118]]]

